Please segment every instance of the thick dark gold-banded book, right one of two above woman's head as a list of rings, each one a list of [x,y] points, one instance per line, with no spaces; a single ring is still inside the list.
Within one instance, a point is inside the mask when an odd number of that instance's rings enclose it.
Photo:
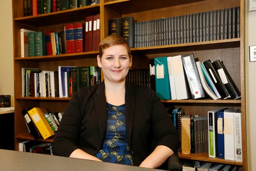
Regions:
[[[121,36],[128,42],[131,48],[133,48],[134,38],[134,18],[133,16],[127,16],[121,18]]]

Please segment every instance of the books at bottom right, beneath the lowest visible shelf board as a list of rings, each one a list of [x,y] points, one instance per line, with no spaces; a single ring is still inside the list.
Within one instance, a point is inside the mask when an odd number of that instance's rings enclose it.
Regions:
[[[242,166],[221,164],[221,163],[210,163],[210,162],[199,162],[186,160],[182,163],[183,171],[242,171]]]

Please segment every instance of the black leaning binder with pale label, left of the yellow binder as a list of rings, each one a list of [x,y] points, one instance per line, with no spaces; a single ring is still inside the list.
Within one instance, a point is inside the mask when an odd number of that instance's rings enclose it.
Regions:
[[[26,109],[22,110],[22,115],[24,117],[25,122],[27,123],[30,134],[36,140],[36,139],[40,138],[41,135],[40,135],[39,131],[37,130],[37,127],[34,124],[34,122],[32,121],[31,117],[29,116],[29,113],[28,113],[29,110],[30,110],[30,108],[26,108]]]

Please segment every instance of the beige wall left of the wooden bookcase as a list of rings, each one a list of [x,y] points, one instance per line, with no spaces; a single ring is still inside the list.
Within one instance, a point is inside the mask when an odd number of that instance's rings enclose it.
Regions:
[[[11,95],[14,99],[12,1],[1,1],[0,5],[0,95]]]

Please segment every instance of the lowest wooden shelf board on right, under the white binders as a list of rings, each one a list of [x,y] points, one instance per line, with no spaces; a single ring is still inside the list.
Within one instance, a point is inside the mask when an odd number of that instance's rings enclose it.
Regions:
[[[236,161],[224,160],[219,158],[210,158],[208,157],[208,153],[190,154],[190,155],[184,155],[179,153],[179,158],[243,166],[243,162],[236,162]]]

